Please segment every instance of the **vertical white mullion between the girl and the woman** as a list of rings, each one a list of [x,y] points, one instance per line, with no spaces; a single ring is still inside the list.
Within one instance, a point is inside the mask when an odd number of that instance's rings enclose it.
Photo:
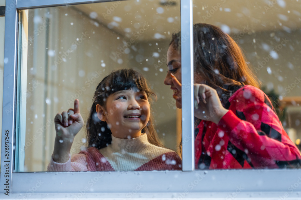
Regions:
[[[183,171],[194,170],[193,19],[192,0],[181,1],[182,152]]]

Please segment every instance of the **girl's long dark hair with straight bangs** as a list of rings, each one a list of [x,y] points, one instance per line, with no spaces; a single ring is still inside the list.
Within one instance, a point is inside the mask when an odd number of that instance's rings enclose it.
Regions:
[[[86,124],[89,147],[101,149],[112,142],[112,132],[108,128],[107,122],[98,119],[96,105],[99,104],[106,109],[106,100],[110,94],[131,88],[144,91],[149,101],[152,100],[151,97],[157,99],[156,94],[150,90],[144,76],[132,69],[115,70],[99,83],[93,97],[93,104]],[[141,132],[147,134],[147,140],[151,144],[162,147],[154,128],[152,112],[150,112],[150,119],[146,127]]]

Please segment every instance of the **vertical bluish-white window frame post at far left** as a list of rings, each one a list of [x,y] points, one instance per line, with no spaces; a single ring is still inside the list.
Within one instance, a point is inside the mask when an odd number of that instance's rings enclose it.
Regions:
[[[16,0],[6,0],[4,70],[3,70],[3,107],[2,107],[2,144],[0,193],[11,193],[11,174],[13,171],[14,118],[16,91],[16,46],[17,46],[17,9]],[[5,146],[6,145],[6,146]]]

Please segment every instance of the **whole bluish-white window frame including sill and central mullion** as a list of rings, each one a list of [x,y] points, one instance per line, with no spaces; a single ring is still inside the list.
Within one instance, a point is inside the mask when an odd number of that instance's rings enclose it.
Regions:
[[[107,0],[6,0],[0,199],[301,199],[300,169],[194,171],[193,87],[182,87],[182,93],[189,94],[182,97],[182,138],[189,138],[183,144],[182,171],[13,173],[14,137],[20,126],[15,122],[16,93],[20,87],[18,10],[104,1]],[[181,30],[182,84],[192,85],[192,0],[181,1]],[[291,187],[294,184],[295,189]]]

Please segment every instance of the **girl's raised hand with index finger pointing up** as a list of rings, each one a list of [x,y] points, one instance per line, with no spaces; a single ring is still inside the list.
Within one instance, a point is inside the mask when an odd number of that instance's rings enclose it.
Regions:
[[[84,120],[79,113],[79,100],[74,100],[74,108],[67,112],[57,113],[54,117],[54,126],[57,136],[74,139],[84,125]]]

